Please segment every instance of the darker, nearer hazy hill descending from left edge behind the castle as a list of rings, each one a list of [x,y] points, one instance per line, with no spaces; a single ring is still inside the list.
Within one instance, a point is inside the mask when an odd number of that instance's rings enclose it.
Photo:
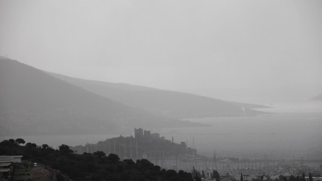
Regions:
[[[155,128],[182,123],[165,120],[18,61],[0,59],[0,135],[106,134],[135,125]]]

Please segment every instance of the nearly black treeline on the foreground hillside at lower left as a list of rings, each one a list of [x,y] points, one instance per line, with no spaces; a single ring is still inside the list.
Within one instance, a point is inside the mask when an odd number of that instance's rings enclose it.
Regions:
[[[93,154],[74,154],[67,145],[58,150],[47,144],[41,146],[26,143],[23,139],[0,142],[0,155],[23,155],[23,159],[42,163],[57,169],[74,181],[193,181],[191,173],[180,170],[165,170],[150,161],[139,159],[120,161],[115,154],[102,151]],[[64,177],[57,175],[58,181]]]

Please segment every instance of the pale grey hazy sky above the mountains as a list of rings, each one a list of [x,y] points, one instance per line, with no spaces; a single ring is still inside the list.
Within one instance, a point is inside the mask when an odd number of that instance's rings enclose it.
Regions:
[[[226,100],[322,93],[321,0],[0,0],[0,55]]]

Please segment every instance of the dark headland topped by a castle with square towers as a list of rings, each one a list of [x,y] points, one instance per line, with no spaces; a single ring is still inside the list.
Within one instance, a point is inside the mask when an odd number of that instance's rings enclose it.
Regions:
[[[149,130],[142,128],[134,128],[134,137],[122,136],[109,138],[105,141],[100,141],[97,144],[87,144],[85,146],[72,147],[72,150],[79,154],[94,153],[103,151],[106,155],[113,153],[119,158],[180,158],[187,156],[196,156],[197,150],[187,147],[186,142],[180,144],[174,143],[172,140],[167,140],[160,137],[159,133],[151,133]]]

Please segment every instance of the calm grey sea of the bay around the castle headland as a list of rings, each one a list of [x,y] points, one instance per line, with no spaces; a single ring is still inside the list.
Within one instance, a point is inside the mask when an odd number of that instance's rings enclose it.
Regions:
[[[263,104],[263,103],[262,103]],[[276,103],[273,108],[260,109],[274,112],[254,117],[220,117],[185,119],[212,126],[200,128],[167,128],[161,136],[174,142],[187,142],[198,153],[220,157],[266,157],[275,159],[322,159],[322,102]],[[144,127],[142,127],[144,129]],[[133,132],[133,131],[132,131]],[[128,133],[129,135],[129,133]],[[97,143],[119,135],[42,135],[0,137],[23,138],[37,145],[53,148]]]

